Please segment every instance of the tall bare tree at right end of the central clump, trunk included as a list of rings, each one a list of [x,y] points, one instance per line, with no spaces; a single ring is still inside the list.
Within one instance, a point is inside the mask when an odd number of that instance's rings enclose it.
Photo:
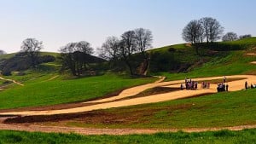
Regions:
[[[146,49],[151,48],[151,43],[153,41],[152,32],[143,29],[143,28],[137,28],[134,30],[135,32],[135,43],[137,45],[137,50],[141,55],[143,55],[143,62],[140,67],[139,74],[146,75],[148,71],[149,66],[149,55],[146,53]]]

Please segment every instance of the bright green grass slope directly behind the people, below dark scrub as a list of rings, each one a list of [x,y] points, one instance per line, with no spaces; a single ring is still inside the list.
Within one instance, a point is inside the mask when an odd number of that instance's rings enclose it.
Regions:
[[[224,76],[235,74],[256,74],[256,66],[250,64],[255,61],[255,56],[244,55],[244,51],[232,51],[226,57],[216,57],[200,67],[195,67],[193,71],[187,73],[169,73],[161,74],[167,77],[167,80],[183,78],[201,78],[212,76]]]

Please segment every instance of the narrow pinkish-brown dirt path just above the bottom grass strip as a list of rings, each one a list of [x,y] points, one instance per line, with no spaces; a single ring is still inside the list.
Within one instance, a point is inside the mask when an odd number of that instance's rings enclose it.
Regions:
[[[191,128],[191,129],[93,129],[93,128],[78,128],[78,127],[60,127],[60,126],[43,126],[35,124],[0,124],[0,130],[19,130],[30,132],[55,132],[55,133],[76,133],[80,135],[131,135],[131,134],[154,134],[158,132],[203,132],[217,130],[244,130],[255,129],[256,125],[241,125],[224,128]]]

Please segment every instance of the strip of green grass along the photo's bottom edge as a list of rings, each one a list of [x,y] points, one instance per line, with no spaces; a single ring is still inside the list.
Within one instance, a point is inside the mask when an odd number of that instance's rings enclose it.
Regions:
[[[253,143],[256,141],[256,130],[229,131],[221,130],[215,132],[201,133],[157,133],[154,135],[76,135],[76,134],[54,134],[39,132],[18,132],[10,130],[0,131],[0,143],[55,143],[55,144],[82,144],[82,143]]]

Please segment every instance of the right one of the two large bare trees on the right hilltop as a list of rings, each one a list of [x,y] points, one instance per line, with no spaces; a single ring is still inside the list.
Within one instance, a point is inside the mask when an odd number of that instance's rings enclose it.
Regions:
[[[218,20],[211,17],[205,17],[201,18],[200,21],[204,28],[204,35],[207,38],[207,43],[213,43],[222,37],[224,27],[219,24]]]

